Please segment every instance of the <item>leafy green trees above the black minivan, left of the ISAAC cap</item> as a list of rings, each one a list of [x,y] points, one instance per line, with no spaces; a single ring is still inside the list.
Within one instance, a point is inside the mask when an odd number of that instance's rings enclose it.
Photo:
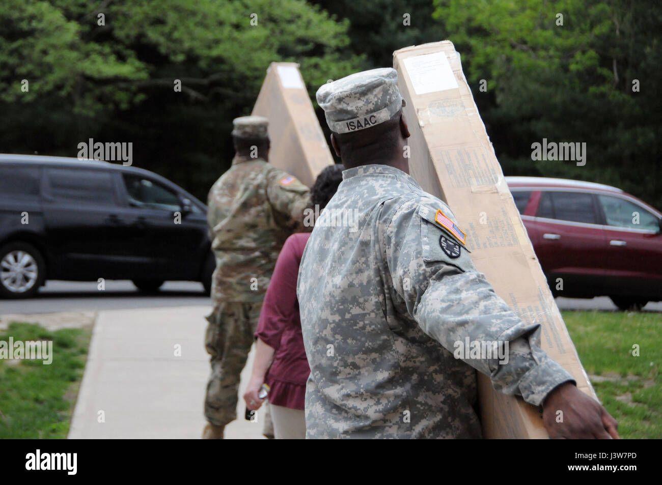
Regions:
[[[204,198],[269,63],[299,62],[314,93],[360,65],[347,27],[301,0],[5,0],[0,145],[75,156],[87,138],[131,141],[136,165]]]

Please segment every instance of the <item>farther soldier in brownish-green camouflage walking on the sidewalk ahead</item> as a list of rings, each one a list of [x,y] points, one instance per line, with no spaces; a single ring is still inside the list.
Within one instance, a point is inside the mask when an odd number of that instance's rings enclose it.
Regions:
[[[234,120],[232,167],[209,191],[208,220],[216,270],[214,310],[205,347],[211,355],[203,437],[222,438],[236,419],[240,373],[253,343],[264,294],[278,254],[303,229],[308,187],[270,165],[267,118]]]

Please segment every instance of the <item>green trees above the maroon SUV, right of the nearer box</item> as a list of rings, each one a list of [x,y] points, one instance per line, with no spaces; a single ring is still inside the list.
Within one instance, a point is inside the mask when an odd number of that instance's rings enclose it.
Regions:
[[[435,0],[506,173],[610,183],[662,207],[662,5]],[[562,17],[561,17],[562,16]],[[561,23],[562,22],[562,23]],[[479,81],[488,91],[479,91]],[[639,86],[639,91],[633,87]],[[587,163],[531,144],[586,142]]]

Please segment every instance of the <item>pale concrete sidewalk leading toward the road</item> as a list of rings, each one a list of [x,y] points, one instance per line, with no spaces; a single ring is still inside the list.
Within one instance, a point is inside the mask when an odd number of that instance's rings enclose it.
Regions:
[[[69,438],[199,438],[209,376],[205,315],[209,306],[99,312]],[[181,357],[175,346],[181,345]],[[250,377],[252,349],[240,396]],[[263,439],[256,423],[238,418],[226,438]],[[99,422],[103,412],[104,422]]]

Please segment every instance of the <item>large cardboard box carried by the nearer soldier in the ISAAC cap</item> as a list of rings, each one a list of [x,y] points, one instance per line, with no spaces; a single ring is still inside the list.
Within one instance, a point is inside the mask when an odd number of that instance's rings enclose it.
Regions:
[[[526,234],[485,131],[459,55],[448,40],[393,54],[412,134],[410,173],[440,197],[467,232],[467,247],[496,293],[527,323],[542,325],[542,347],[595,396]],[[479,375],[487,438],[546,438],[537,408],[493,390]]]

